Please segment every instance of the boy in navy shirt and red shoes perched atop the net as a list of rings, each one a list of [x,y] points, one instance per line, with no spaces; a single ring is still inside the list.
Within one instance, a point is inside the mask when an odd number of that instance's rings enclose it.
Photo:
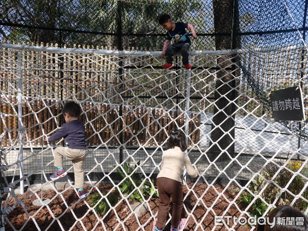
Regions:
[[[162,68],[172,70],[173,56],[181,51],[182,62],[187,70],[190,69],[191,65],[188,61],[190,38],[185,28],[190,30],[192,37],[196,40],[198,36],[196,35],[194,27],[187,23],[173,23],[169,14],[160,16],[158,23],[167,30],[167,37],[162,51],[162,59],[166,59],[167,64],[163,65]],[[172,38],[175,39],[175,43],[170,45]]]

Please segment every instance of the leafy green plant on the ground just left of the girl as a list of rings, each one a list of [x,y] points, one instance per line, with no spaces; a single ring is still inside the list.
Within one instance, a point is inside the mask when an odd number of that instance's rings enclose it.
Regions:
[[[143,202],[143,198],[148,198],[152,195],[152,197],[158,197],[158,194],[155,190],[155,186],[153,181],[142,181],[140,174],[137,173],[136,168],[140,164],[138,161],[134,167],[129,167],[129,164],[124,163],[123,169],[124,172],[121,170],[120,167],[117,167],[117,171],[119,175],[124,179],[123,183],[121,184],[120,191],[124,195],[129,195],[129,198],[132,201],[140,201]],[[136,185],[136,186],[135,186]],[[138,187],[139,190],[136,188]]]

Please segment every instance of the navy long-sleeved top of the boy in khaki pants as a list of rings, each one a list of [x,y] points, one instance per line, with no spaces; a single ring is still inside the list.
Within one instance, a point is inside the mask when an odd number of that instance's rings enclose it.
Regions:
[[[87,149],[84,124],[80,120],[63,124],[59,130],[49,137],[48,142],[61,138],[64,138],[69,148]]]

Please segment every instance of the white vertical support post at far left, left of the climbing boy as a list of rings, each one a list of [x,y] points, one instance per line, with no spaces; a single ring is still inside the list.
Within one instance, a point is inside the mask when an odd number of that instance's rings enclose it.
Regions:
[[[20,161],[20,179],[24,177],[24,145],[23,145],[23,70],[22,70],[22,52],[17,52],[17,74],[18,74],[18,138],[20,141],[20,149],[18,152],[18,160]],[[24,194],[24,180],[20,181],[21,194]]]

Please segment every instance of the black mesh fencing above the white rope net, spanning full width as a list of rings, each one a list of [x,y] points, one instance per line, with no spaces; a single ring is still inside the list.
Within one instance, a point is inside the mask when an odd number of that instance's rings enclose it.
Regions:
[[[59,47],[161,50],[165,31],[158,18],[163,13],[170,14],[174,22],[195,27],[199,38],[192,42],[192,50],[241,50],[236,54],[237,61],[267,109],[271,90],[299,84],[306,93],[304,0],[6,0],[0,3],[0,40]],[[303,47],[290,51],[287,46]],[[264,47],[274,49],[273,55],[260,53],[258,49]],[[306,139],[305,123],[284,124]]]

